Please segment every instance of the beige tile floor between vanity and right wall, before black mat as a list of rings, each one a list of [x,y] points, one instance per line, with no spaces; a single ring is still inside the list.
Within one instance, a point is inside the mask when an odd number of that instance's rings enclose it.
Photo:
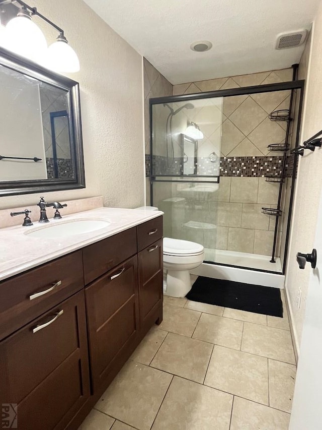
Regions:
[[[79,430],[287,430],[295,374],[287,316],[165,296]]]

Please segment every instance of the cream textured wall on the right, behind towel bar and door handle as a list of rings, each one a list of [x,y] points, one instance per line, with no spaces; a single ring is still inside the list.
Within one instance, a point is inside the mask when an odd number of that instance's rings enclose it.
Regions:
[[[310,49],[311,53],[309,55]],[[308,139],[322,128],[321,49],[322,4],[319,7],[316,19],[314,21],[311,35],[311,45],[310,40],[308,40],[300,63],[300,78],[305,78],[306,71],[308,71],[301,142]],[[321,165],[321,149],[317,149],[314,152],[305,151],[304,157],[300,157],[299,160],[298,177],[295,190],[296,198],[293,211],[291,240],[285,281],[285,287],[291,307],[297,346],[300,344],[305,316],[305,304],[310,276],[310,266],[308,266],[305,270],[299,270],[295,256],[297,252],[311,252],[314,245],[317,210],[322,186]],[[303,222],[306,219],[309,219],[309,222]],[[302,290],[300,309],[297,307],[297,294],[299,287]]]

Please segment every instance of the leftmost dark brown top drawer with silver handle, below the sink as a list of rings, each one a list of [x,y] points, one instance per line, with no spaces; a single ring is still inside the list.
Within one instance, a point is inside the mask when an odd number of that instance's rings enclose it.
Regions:
[[[82,251],[0,282],[0,339],[82,288]]]

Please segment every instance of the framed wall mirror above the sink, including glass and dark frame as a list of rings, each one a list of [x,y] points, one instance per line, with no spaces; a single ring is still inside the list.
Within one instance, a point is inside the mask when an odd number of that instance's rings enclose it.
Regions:
[[[0,49],[0,196],[85,188],[79,85]]]

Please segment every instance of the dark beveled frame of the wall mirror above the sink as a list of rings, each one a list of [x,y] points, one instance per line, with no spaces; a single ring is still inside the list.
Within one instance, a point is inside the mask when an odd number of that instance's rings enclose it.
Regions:
[[[81,104],[78,82],[51,72],[27,58],[16,55],[4,48],[0,48],[0,65],[68,92],[71,126],[70,155],[73,169],[73,178],[0,181],[0,196],[31,193],[41,194],[42,192],[47,193],[49,191],[85,188]]]

